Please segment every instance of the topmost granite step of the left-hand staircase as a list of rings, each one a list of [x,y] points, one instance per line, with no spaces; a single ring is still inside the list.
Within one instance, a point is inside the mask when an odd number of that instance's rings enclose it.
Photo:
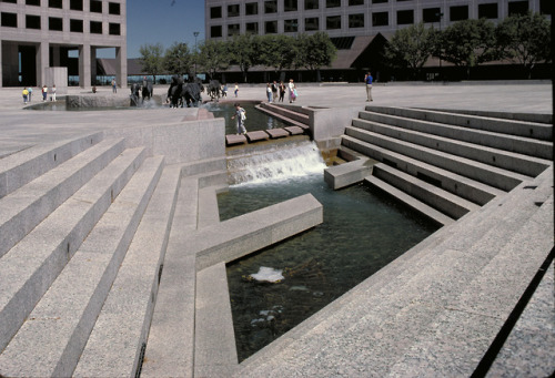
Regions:
[[[1,159],[0,198],[99,143],[102,133],[37,144]]]

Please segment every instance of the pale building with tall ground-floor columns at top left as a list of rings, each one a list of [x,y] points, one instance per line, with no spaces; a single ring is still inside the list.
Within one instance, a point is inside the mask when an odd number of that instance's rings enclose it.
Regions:
[[[127,85],[125,0],[0,0],[0,88],[40,86],[47,70],[71,65],[79,85],[97,75],[97,50],[115,50],[119,85]]]

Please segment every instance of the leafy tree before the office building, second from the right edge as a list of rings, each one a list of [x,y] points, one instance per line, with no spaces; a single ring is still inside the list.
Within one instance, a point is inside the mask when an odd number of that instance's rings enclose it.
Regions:
[[[435,37],[434,55],[465,68],[467,79],[472,67],[497,58],[495,25],[486,19],[458,21]]]

